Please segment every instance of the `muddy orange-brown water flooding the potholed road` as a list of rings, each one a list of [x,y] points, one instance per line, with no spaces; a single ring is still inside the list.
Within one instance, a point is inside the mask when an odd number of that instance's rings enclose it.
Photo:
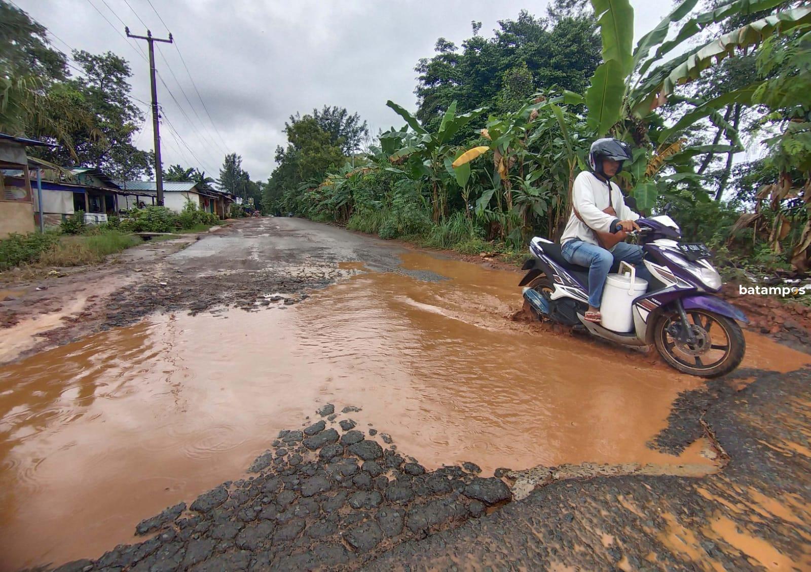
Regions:
[[[702,380],[508,322],[518,275],[427,254],[294,307],[157,316],[0,369],[0,563],[96,557],[140,519],[242,475],[321,403],[363,408],[429,468],[712,461],[646,446]],[[268,292],[272,294],[273,292]],[[744,366],[809,356],[748,335]],[[703,468],[702,468],[703,467]]]

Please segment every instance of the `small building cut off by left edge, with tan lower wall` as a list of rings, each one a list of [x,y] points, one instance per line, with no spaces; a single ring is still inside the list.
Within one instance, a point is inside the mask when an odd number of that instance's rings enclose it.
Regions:
[[[25,147],[45,144],[0,133],[0,238],[11,233],[31,233],[36,228]],[[19,177],[12,173],[19,173]]]

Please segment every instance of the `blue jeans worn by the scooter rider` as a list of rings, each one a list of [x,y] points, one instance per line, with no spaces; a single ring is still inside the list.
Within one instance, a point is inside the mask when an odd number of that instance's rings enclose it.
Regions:
[[[637,268],[637,276],[650,283],[650,272],[642,263],[642,246],[619,242],[609,252],[598,245],[573,238],[564,242],[560,252],[570,264],[589,269],[589,305],[594,308],[600,307],[608,272],[611,268],[619,267],[623,260],[633,264]]]

